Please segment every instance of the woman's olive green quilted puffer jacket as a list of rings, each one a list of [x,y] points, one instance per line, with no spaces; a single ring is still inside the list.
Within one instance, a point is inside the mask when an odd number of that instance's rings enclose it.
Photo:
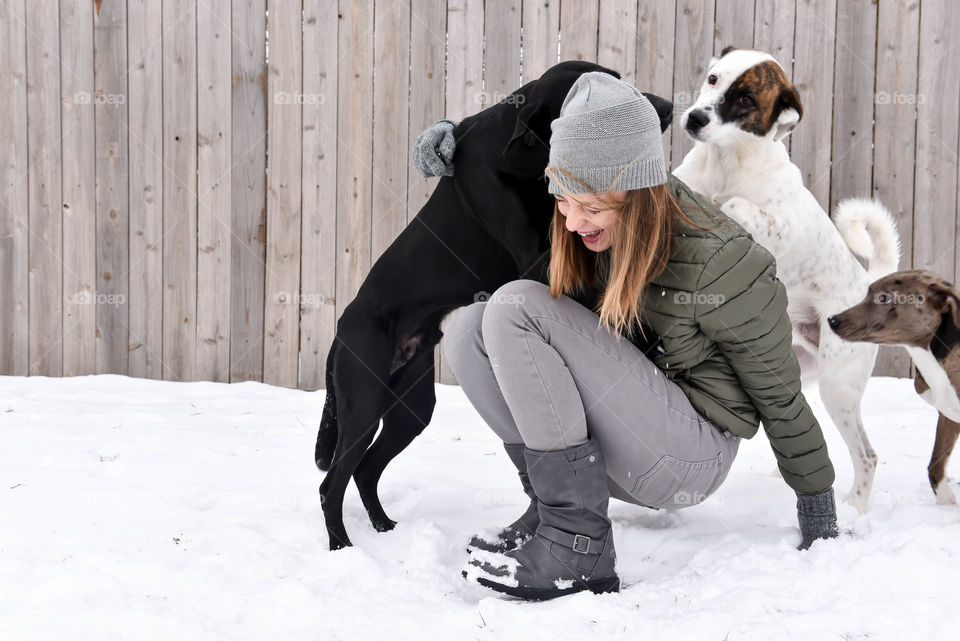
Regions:
[[[689,219],[711,229],[676,220],[667,268],[644,295],[644,325],[663,341],[652,360],[715,425],[751,438],[762,422],[794,490],[826,490],[833,465],[800,391],[773,255],[672,174],[667,186]]]

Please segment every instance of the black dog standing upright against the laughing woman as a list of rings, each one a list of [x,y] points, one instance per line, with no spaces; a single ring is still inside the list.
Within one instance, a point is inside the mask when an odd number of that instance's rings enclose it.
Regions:
[[[377,483],[433,415],[434,348],[443,318],[511,280],[547,282],[553,196],[543,173],[550,123],[589,71],[620,77],[593,63],[562,62],[459,123],[456,175],[440,179],[337,321],[315,456],[317,467],[329,470],[320,498],[330,549],[350,545],[343,495],[351,476],[374,528],[396,525],[383,511]],[[666,129],[672,103],[647,97]],[[584,292],[583,300],[596,294]]]

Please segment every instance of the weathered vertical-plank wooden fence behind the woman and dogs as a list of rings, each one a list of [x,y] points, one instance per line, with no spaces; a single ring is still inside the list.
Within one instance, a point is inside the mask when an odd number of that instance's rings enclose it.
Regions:
[[[712,54],[770,51],[820,202],[879,197],[901,266],[956,280],[956,5],[0,0],[0,374],[322,387],[336,318],[434,184],[416,135],[571,58],[679,114]],[[676,166],[690,143],[665,141]]]

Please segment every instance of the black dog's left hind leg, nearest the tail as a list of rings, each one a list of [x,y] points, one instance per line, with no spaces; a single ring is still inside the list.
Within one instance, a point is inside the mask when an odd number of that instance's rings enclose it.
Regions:
[[[346,315],[346,312],[344,313]],[[392,346],[386,333],[372,323],[343,323],[338,334],[335,378],[337,446],[320,484],[320,501],[330,549],[351,545],[343,525],[343,495],[380,425],[390,393]],[[349,393],[348,393],[349,392]]]

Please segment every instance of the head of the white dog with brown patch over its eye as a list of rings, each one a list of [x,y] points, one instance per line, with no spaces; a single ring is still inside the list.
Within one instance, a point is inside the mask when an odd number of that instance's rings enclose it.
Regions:
[[[697,101],[680,125],[699,142],[782,140],[803,116],[800,96],[773,57],[727,47],[710,61]]]

